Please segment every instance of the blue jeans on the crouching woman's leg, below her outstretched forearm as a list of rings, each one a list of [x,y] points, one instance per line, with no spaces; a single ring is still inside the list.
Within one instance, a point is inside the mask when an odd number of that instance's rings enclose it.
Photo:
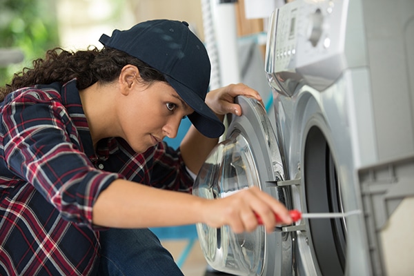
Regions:
[[[99,276],[183,276],[172,255],[149,229],[100,232]]]

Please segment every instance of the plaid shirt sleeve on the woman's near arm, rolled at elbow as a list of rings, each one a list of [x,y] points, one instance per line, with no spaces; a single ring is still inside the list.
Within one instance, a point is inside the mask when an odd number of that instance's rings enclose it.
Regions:
[[[3,106],[6,163],[65,219],[92,228],[92,206],[99,193],[121,176],[93,166],[66,108],[39,93],[26,93]]]

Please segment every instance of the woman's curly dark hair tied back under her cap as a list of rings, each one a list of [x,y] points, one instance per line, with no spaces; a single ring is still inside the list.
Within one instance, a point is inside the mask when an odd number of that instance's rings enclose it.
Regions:
[[[76,52],[54,48],[46,52],[45,59],[36,59],[32,64],[33,68],[23,68],[14,74],[10,84],[0,87],[0,101],[14,90],[36,84],[56,81],[63,84],[77,78],[77,88],[82,90],[97,81],[109,83],[119,77],[127,64],[137,66],[139,75],[147,83],[166,81],[161,72],[144,61],[114,48],[88,48]]]

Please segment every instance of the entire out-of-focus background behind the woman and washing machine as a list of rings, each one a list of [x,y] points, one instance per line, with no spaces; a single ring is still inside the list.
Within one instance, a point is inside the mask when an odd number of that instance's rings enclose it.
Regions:
[[[250,18],[246,10],[251,8],[246,8],[249,3],[245,1],[0,0],[0,86],[10,83],[15,72],[31,67],[34,59],[44,57],[51,48],[101,48],[98,39],[103,33],[110,35],[114,29],[128,29],[149,19],[175,19],[187,21],[206,43],[212,62],[210,89],[244,82],[258,90],[270,106],[264,75],[266,17],[277,0],[261,0],[267,7],[264,16]],[[184,121],[177,138],[168,139],[168,144],[177,148],[188,126],[190,122]],[[152,230],[185,275],[209,273],[194,225]]]

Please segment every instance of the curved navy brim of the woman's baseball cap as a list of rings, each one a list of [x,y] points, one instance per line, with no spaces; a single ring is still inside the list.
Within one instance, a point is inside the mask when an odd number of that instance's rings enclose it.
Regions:
[[[195,112],[188,115],[191,123],[201,132],[202,135],[209,138],[220,137],[225,130],[224,124],[219,120],[215,113],[206,105],[204,99],[201,99],[196,92],[193,92],[187,86],[179,81],[164,75],[170,86],[177,91],[177,94],[183,99],[190,108]]]

